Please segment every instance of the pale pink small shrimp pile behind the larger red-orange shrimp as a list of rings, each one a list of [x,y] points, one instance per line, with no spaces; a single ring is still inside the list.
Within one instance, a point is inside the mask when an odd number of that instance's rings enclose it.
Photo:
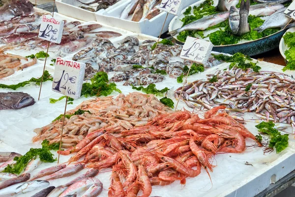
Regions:
[[[91,133],[98,129],[120,132],[133,127],[143,126],[148,120],[161,114],[173,113],[162,104],[154,95],[141,93],[120,94],[99,97],[82,102],[75,109],[67,111],[73,114],[78,109],[85,112],[82,115],[74,115],[65,119],[62,135],[62,147],[68,148],[76,145],[81,140],[91,139]],[[63,119],[59,119],[47,126],[37,128],[37,133],[32,141],[47,139],[50,143],[59,142]],[[89,137],[90,136],[90,137]]]

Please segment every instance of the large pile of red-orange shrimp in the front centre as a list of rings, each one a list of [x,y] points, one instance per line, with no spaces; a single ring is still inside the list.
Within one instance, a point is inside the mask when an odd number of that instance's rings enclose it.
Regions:
[[[203,167],[213,170],[210,158],[217,153],[242,153],[245,138],[255,136],[230,117],[224,106],[215,107],[200,119],[189,111],[159,115],[145,126],[120,132],[100,129],[60,154],[76,153],[71,163],[103,169],[112,167],[109,197],[142,197],[153,185],[198,176]]]

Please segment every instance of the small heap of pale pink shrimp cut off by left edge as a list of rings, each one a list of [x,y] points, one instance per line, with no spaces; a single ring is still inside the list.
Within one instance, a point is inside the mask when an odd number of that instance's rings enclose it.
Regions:
[[[25,64],[22,64],[21,60],[28,61],[28,58],[0,53],[0,79],[12,75],[16,70],[22,70],[37,63],[36,58]]]

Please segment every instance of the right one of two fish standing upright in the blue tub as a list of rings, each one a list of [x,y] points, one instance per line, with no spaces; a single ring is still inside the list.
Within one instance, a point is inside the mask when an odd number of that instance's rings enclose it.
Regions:
[[[239,10],[240,20],[238,24],[238,30],[236,33],[237,35],[242,35],[242,34],[250,32],[250,25],[248,23],[249,9],[250,9],[250,0],[247,0],[246,2],[244,0],[241,0],[240,10]]]

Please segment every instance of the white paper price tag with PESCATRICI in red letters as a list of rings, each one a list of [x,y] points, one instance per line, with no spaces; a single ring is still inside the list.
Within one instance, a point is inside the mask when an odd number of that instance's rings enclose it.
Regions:
[[[38,37],[59,44],[61,42],[63,24],[63,20],[43,15]]]

